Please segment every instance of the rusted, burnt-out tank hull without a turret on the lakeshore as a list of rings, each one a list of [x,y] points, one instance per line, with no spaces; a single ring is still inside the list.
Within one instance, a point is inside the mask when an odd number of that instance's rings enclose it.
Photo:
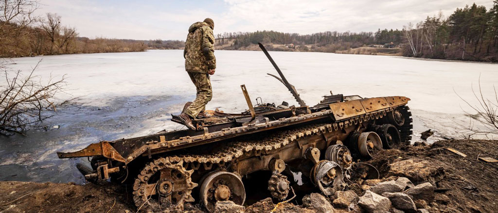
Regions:
[[[59,158],[92,157],[91,169],[77,165],[85,178],[132,184],[138,211],[200,203],[214,212],[218,201],[244,204],[248,174],[266,171],[264,181],[275,200],[285,200],[292,190],[289,170],[302,172],[314,187],[331,195],[341,189],[358,159],[410,143],[409,98],[331,94],[308,106],[259,46],[280,77],[270,75],[289,89],[299,106],[253,106],[241,85],[249,108],[243,113],[206,111],[210,117],[193,120],[197,130],[92,143],[79,151],[58,152]],[[181,123],[176,115],[171,120]]]

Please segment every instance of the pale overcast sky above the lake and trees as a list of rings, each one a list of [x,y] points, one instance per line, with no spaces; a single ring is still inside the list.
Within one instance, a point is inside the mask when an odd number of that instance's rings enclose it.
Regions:
[[[37,13],[59,14],[79,36],[185,40],[190,24],[206,17],[215,21],[215,34],[362,32],[401,29],[473,2],[493,5],[493,0],[40,0]]]

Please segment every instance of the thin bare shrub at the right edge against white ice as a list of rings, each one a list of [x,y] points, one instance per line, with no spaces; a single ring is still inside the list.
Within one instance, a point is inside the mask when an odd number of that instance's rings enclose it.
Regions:
[[[468,133],[471,133],[472,135],[485,136],[498,135],[498,92],[495,85],[493,85],[493,89],[495,91],[495,97],[492,97],[490,100],[483,95],[483,90],[481,89],[481,77],[479,77],[479,92],[476,92],[472,86],[472,93],[474,94],[477,102],[471,103],[457,94],[458,97],[460,97],[460,99],[462,99],[475,112],[474,114],[471,114],[464,110],[464,112],[472,118],[469,122],[469,126],[464,127]],[[482,124],[484,128],[475,128],[473,120]]]

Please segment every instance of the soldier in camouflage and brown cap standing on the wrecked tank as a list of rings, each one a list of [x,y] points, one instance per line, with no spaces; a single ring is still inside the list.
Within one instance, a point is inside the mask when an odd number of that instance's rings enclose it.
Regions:
[[[185,71],[197,88],[197,97],[179,117],[183,124],[191,130],[195,130],[192,119],[205,110],[206,104],[213,97],[209,75],[214,74],[216,69],[213,46],[215,42],[214,27],[215,23],[211,18],[206,18],[203,22],[193,23],[188,29],[187,41],[183,50]]]

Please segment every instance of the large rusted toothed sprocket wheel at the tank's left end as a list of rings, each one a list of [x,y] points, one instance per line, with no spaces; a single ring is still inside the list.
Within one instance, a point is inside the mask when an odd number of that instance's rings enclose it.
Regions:
[[[171,162],[159,158],[145,166],[133,184],[133,201],[138,211],[159,212],[167,208],[183,209],[185,202],[193,202],[193,183],[183,161]]]

